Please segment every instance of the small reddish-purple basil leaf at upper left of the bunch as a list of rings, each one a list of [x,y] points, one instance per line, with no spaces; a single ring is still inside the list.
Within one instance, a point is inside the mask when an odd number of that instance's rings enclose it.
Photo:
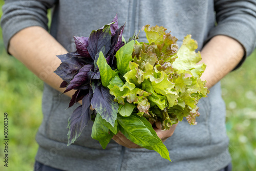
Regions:
[[[88,39],[89,37],[76,37],[73,36],[74,40],[75,40],[75,44],[76,44],[76,50],[77,53],[79,53],[82,57],[88,57],[91,58],[88,50],[87,50],[87,46],[88,46]]]

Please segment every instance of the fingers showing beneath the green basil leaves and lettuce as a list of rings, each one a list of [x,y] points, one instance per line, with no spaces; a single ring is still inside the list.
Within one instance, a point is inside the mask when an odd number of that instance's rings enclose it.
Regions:
[[[153,126],[153,129],[156,131],[157,136],[162,140],[162,142],[164,142],[167,138],[171,137],[174,134],[177,125],[178,123],[170,127],[169,130],[162,131],[161,122],[156,122],[155,125]],[[127,148],[142,148],[139,145],[127,139],[120,131],[116,135],[114,135],[112,139],[116,141],[116,143]]]

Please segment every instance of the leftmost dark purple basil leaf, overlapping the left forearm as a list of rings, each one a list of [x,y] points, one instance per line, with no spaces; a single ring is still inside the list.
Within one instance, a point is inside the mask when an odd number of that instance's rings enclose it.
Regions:
[[[72,57],[60,63],[59,67],[54,71],[54,73],[64,81],[70,82],[77,70],[79,70],[85,64],[86,62],[83,58]]]

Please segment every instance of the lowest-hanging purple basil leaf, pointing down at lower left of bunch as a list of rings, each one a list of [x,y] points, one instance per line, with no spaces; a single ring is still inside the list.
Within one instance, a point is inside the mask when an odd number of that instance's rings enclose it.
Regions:
[[[90,118],[91,116],[89,110],[82,113],[82,105],[76,108],[68,120],[68,145],[72,144],[81,135],[84,127],[88,125]]]

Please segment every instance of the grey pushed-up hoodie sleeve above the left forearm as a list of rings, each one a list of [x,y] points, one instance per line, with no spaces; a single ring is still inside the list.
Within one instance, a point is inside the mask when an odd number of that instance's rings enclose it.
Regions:
[[[55,3],[55,0],[6,0],[1,17],[6,50],[11,37],[24,28],[40,26],[48,30],[47,9],[53,7]]]

